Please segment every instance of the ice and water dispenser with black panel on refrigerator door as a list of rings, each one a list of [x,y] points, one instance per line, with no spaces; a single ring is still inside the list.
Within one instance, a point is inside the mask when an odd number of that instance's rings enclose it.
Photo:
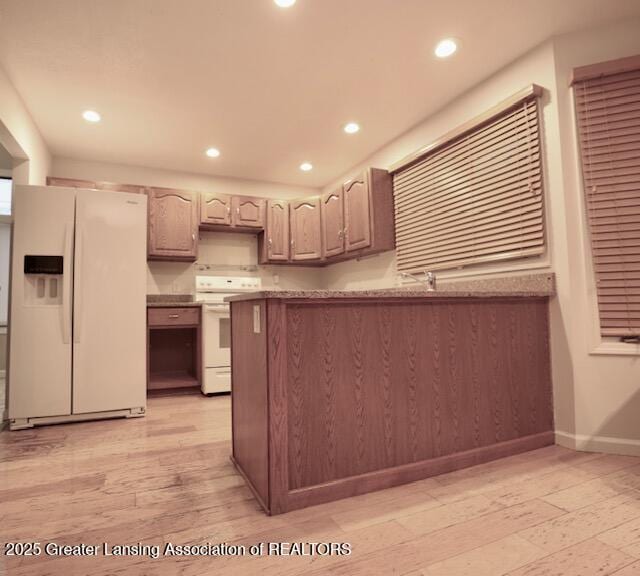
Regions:
[[[27,306],[62,305],[62,256],[24,257],[24,303]]]

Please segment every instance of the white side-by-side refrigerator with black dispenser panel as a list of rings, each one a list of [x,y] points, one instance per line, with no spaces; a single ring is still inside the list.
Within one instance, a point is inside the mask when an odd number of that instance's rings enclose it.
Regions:
[[[144,415],[146,196],[16,186],[13,215],[11,429]]]

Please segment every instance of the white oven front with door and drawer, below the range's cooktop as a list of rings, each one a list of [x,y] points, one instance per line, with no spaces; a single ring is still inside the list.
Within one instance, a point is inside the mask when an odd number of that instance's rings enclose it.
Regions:
[[[205,304],[203,333],[205,394],[231,390],[231,324],[228,304]]]

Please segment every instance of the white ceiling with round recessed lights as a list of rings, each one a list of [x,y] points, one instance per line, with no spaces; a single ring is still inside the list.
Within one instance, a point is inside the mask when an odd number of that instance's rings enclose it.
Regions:
[[[632,14],[638,0],[0,0],[0,64],[54,156],[321,186],[546,38]],[[460,50],[438,61],[446,36]]]

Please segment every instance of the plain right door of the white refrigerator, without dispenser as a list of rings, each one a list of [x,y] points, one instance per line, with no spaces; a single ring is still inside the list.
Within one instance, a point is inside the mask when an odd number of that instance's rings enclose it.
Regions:
[[[146,406],[147,198],[79,190],[73,413]]]

